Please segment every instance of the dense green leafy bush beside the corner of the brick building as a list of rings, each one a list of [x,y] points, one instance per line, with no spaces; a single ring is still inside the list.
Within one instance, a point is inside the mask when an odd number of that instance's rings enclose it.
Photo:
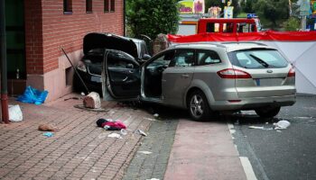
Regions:
[[[131,36],[154,39],[159,33],[178,30],[177,0],[127,0],[126,19]]]

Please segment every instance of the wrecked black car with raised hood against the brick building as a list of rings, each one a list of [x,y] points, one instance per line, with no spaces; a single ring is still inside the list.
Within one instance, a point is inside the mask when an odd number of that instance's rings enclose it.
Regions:
[[[89,92],[96,91],[99,94],[102,93],[101,72],[105,49],[120,50],[109,53],[109,57],[119,59],[125,56],[131,56],[135,58],[139,64],[151,58],[144,40],[126,38],[111,33],[88,33],[83,39],[84,56],[79,61],[76,69],[84,84],[87,85]],[[76,73],[74,75],[74,90],[87,93],[79,76]]]

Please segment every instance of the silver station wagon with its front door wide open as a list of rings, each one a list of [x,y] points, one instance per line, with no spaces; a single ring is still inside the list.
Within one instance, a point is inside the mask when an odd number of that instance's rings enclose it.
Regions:
[[[140,65],[107,49],[104,98],[140,100],[188,109],[196,121],[218,112],[255,110],[274,117],[295,103],[295,72],[277,49],[261,43],[177,44]]]

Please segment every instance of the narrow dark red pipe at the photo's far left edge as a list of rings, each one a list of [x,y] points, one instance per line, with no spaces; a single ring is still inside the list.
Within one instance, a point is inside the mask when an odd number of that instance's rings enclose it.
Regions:
[[[1,108],[2,121],[9,123],[6,75],[5,0],[0,0],[0,59],[1,59]]]

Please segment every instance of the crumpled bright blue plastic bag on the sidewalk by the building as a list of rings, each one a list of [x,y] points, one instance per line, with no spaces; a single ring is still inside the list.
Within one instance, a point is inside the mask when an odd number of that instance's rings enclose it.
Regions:
[[[17,97],[17,101],[40,105],[45,102],[47,94],[48,91],[39,91],[29,85],[26,87],[24,93]]]

